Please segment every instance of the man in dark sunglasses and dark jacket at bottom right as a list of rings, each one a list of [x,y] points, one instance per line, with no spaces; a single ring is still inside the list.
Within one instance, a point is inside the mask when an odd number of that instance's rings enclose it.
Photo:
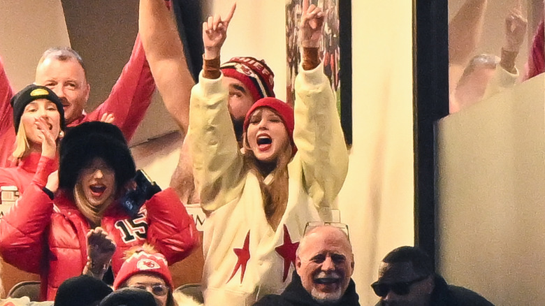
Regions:
[[[376,306],[494,306],[470,289],[446,284],[433,271],[428,254],[417,247],[388,253],[371,287],[380,298]]]

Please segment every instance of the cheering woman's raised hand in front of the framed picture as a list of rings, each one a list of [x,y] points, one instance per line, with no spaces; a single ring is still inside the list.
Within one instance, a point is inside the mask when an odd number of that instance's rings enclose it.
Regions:
[[[301,46],[319,48],[324,31],[324,12],[321,8],[303,0],[303,13],[300,23]]]

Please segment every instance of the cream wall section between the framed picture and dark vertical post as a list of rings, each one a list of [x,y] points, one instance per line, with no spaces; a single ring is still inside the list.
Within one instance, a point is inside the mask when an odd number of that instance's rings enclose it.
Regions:
[[[354,145],[340,194],[361,305],[391,249],[413,244],[412,1],[352,1]]]

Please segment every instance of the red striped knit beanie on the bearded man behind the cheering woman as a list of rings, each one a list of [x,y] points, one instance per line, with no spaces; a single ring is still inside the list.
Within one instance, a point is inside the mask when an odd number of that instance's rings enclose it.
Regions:
[[[221,73],[244,84],[254,101],[266,96],[275,96],[275,74],[265,61],[254,57],[233,57],[221,65]]]

